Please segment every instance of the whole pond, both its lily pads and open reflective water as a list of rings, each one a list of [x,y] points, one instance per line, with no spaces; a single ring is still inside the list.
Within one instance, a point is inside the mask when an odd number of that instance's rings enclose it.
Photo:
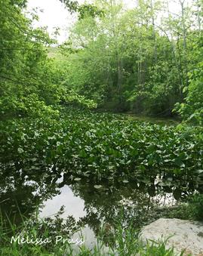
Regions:
[[[55,121],[7,122],[0,134],[3,219],[20,230],[29,216],[54,220],[60,211],[92,247],[101,230],[109,246],[118,224],[139,230],[171,217],[203,192],[202,128],[159,121],[70,111]]]

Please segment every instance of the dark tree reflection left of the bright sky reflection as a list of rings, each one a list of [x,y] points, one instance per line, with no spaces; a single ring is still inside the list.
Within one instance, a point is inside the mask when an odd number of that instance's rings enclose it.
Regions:
[[[51,176],[51,169],[42,165],[21,168],[5,166],[0,177],[0,210],[9,220],[20,224],[46,199],[60,193],[56,180],[60,174]],[[6,219],[5,217],[4,219]]]

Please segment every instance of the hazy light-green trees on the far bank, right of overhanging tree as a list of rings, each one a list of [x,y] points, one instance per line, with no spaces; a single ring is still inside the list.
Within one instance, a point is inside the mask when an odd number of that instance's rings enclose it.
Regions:
[[[78,2],[66,5],[72,11],[83,8]],[[79,19],[61,46],[67,57],[66,86],[90,97],[101,109],[174,114],[175,103],[183,103],[186,94],[187,72],[198,63],[193,47],[198,32],[191,27],[194,13],[183,6],[180,16],[168,11],[168,18],[159,24],[156,17],[165,8],[160,2],[140,1],[128,11],[121,1],[94,1],[94,5],[105,15]],[[195,106],[191,97],[202,91],[198,88],[189,89],[191,106]],[[200,109],[201,94],[198,97]],[[193,112],[191,108],[192,118],[199,119],[201,112]]]

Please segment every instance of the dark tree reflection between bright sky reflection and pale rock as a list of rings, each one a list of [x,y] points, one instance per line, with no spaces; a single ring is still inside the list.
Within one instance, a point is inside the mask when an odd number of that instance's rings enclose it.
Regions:
[[[165,205],[169,199],[173,199],[172,192],[179,190],[180,196],[185,195],[181,185],[180,188],[173,185],[155,186],[154,179],[149,179],[152,183],[147,184],[137,180],[128,184],[111,184],[106,181],[102,188],[96,189],[94,184],[84,180],[72,183],[65,174],[61,186],[69,185],[75,196],[84,199],[87,214],[82,217],[82,222],[88,224],[94,230],[95,236],[98,236],[101,227],[105,233],[110,233],[116,228],[117,223],[121,223],[123,228],[128,228],[132,224],[134,228],[139,228],[157,217],[155,214],[158,205]]]

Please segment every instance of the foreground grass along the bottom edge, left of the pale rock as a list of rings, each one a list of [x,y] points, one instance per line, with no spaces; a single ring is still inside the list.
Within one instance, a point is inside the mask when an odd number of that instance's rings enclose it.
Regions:
[[[71,237],[73,233],[77,230],[75,228],[75,223],[72,227],[68,222],[64,223],[63,219],[60,218],[59,212],[54,219],[45,218],[43,220],[38,217],[30,217],[30,219],[24,219],[23,224],[20,227],[16,227],[15,224],[11,224],[11,221],[7,220],[8,226],[5,226],[5,220],[2,218],[0,223],[0,254],[14,255],[14,256],[26,256],[26,255],[156,255],[156,256],[173,256],[174,248],[167,248],[167,240],[162,240],[158,242],[140,242],[137,230],[134,227],[122,227],[121,223],[115,226],[113,230],[113,242],[106,244],[103,242],[103,236],[106,236],[104,230],[100,230],[100,236],[97,239],[97,244],[94,248],[88,248],[86,245],[72,245],[69,242],[59,242],[54,241],[54,236]],[[19,244],[18,241],[13,241],[11,243],[11,237],[29,237],[32,241],[35,239],[50,239],[51,243],[32,244],[23,243]]]

